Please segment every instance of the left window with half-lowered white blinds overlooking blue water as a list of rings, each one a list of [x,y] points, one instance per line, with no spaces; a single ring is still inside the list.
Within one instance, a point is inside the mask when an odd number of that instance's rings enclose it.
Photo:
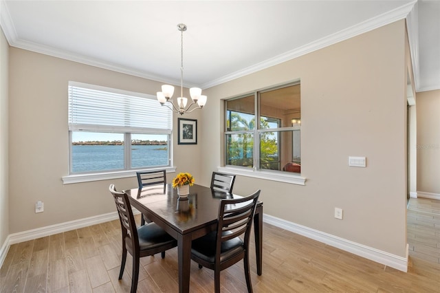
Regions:
[[[69,174],[170,166],[172,121],[155,96],[69,82]]]

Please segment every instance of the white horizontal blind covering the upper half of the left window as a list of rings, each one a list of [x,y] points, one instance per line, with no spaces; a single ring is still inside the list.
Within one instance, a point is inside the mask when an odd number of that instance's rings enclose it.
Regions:
[[[69,82],[69,131],[166,133],[173,112],[155,96]]]

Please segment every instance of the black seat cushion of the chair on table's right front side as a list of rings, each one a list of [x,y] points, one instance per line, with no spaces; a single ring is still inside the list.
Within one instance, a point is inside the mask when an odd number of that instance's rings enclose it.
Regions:
[[[223,232],[223,235],[231,234],[230,231]],[[216,234],[217,231],[212,231],[208,235],[200,237],[192,241],[191,253],[196,257],[214,263],[215,261],[215,246],[216,246]],[[234,257],[234,255],[243,252],[243,240],[240,237],[232,238],[228,241],[221,243],[220,261],[223,262],[226,259]]]

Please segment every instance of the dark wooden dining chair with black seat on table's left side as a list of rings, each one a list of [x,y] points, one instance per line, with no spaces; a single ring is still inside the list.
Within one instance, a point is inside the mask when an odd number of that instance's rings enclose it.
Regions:
[[[155,223],[144,224],[136,228],[128,195],[116,191],[114,184],[109,186],[109,190],[115,200],[122,230],[122,261],[119,279],[122,279],[122,274],[124,274],[126,252],[128,251],[133,257],[131,293],[134,293],[137,290],[140,258],[161,252],[163,259],[165,251],[176,247],[177,241]]]

